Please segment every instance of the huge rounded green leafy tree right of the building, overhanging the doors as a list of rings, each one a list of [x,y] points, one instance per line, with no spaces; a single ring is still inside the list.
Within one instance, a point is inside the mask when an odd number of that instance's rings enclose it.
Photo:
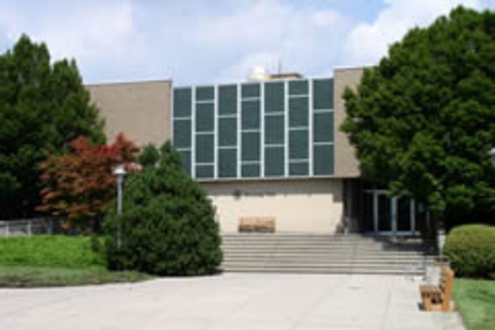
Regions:
[[[411,30],[344,97],[365,178],[428,201],[447,226],[493,215],[493,12],[458,7]]]

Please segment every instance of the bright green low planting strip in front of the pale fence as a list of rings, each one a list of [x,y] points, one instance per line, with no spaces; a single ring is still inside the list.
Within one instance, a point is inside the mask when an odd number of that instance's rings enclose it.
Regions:
[[[0,238],[0,265],[88,268],[103,266],[90,237],[30,236]]]

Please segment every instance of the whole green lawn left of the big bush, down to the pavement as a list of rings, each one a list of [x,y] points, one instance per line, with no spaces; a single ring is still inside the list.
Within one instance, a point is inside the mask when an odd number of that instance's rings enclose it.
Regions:
[[[151,276],[110,272],[84,236],[0,238],[0,287],[137,282]]]

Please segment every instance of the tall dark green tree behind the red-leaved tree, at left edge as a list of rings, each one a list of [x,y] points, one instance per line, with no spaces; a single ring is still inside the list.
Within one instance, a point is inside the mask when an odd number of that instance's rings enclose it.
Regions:
[[[0,55],[0,219],[35,215],[40,162],[80,135],[104,141],[75,61],[50,63],[45,44],[22,36]]]

